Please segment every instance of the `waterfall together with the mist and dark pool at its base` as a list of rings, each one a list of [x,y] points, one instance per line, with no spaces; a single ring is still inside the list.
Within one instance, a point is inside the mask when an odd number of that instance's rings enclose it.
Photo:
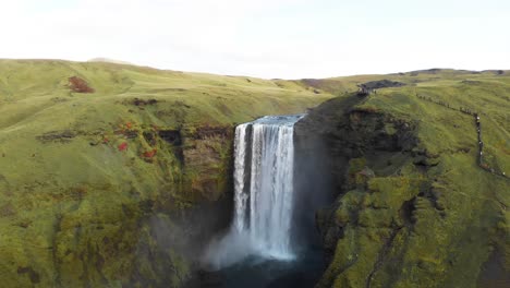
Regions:
[[[295,157],[303,117],[269,116],[235,130],[232,225],[204,256],[222,287],[312,287],[320,275],[314,215],[324,181],[308,179],[317,176],[312,158]]]

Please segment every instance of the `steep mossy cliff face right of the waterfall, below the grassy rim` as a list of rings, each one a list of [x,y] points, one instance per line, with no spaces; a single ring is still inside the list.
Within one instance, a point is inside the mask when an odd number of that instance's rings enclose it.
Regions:
[[[309,169],[336,195],[316,213],[328,263],[316,287],[486,287],[487,265],[505,281],[509,183],[477,167],[476,134],[439,140],[430,131],[464,127],[377,101],[331,99],[296,125],[301,157],[321,159]]]

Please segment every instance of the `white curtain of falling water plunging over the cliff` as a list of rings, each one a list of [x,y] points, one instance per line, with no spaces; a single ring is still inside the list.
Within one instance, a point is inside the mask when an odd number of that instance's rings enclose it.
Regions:
[[[233,233],[260,256],[293,259],[294,124],[303,116],[268,116],[235,129]]]

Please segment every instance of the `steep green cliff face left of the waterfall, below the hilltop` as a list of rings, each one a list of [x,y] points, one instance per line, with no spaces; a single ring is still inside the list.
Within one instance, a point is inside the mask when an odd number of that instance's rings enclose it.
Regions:
[[[130,122],[33,141],[39,152],[32,171],[54,166],[23,185],[15,175],[3,178],[10,225],[2,232],[11,241],[2,247],[2,271],[12,287],[178,287],[206,239],[229,223],[232,127]],[[52,151],[58,159],[49,159]]]

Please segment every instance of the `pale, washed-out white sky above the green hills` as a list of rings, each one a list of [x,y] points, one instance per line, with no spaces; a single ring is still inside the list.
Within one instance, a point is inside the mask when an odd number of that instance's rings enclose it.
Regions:
[[[0,0],[0,58],[265,79],[510,69],[508,0]]]

